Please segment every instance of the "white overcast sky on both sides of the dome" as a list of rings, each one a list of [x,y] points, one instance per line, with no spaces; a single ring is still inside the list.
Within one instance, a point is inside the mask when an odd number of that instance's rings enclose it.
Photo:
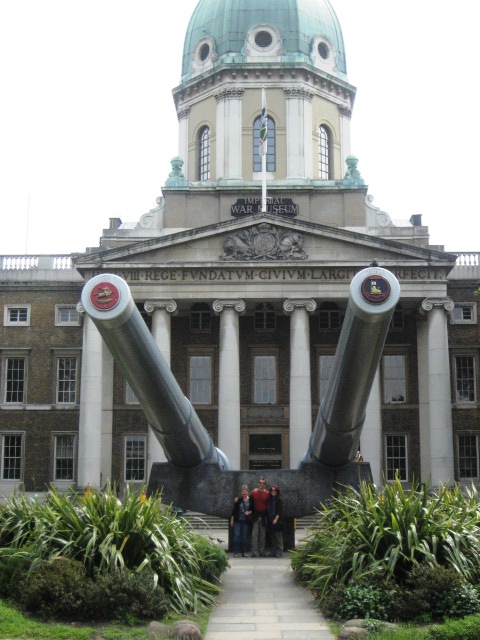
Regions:
[[[178,152],[171,90],[196,4],[0,0],[0,255],[84,251],[109,218],[155,206]],[[373,204],[422,214],[447,250],[479,251],[477,3],[332,4]]]

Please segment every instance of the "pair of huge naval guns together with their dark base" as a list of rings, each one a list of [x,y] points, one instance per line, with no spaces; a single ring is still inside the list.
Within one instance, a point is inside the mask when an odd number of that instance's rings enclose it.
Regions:
[[[282,488],[284,516],[315,513],[336,488],[371,478],[368,463],[353,462],[365,411],[400,285],[389,271],[363,269],[350,284],[349,303],[328,389],[308,450],[298,469],[265,472]],[[228,518],[243,484],[254,488],[259,470],[232,470],[184,396],[135,306],[127,283],[116,275],[89,280],[82,305],[132,387],[168,462],[152,466],[148,493],[183,509]]]

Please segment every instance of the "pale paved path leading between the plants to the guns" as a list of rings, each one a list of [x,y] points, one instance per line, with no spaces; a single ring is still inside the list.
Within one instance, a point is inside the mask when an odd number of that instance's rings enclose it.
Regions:
[[[307,589],[283,558],[233,558],[205,640],[334,640]]]

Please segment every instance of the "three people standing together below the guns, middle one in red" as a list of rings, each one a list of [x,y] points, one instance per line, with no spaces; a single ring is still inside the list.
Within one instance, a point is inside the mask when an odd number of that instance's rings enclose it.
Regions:
[[[251,493],[247,485],[242,486],[242,495],[235,498],[230,526],[233,527],[234,557],[248,556],[248,535],[251,531],[252,558],[266,557],[267,531],[272,550],[270,557],[283,555],[283,503],[278,485],[267,489],[267,479],[261,477],[258,487]]]

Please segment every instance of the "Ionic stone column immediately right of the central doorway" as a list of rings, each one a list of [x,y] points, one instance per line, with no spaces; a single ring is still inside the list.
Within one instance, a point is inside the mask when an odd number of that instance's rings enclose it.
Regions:
[[[309,313],[315,300],[285,300],[290,314],[290,468],[296,468],[308,449],[312,434]]]

